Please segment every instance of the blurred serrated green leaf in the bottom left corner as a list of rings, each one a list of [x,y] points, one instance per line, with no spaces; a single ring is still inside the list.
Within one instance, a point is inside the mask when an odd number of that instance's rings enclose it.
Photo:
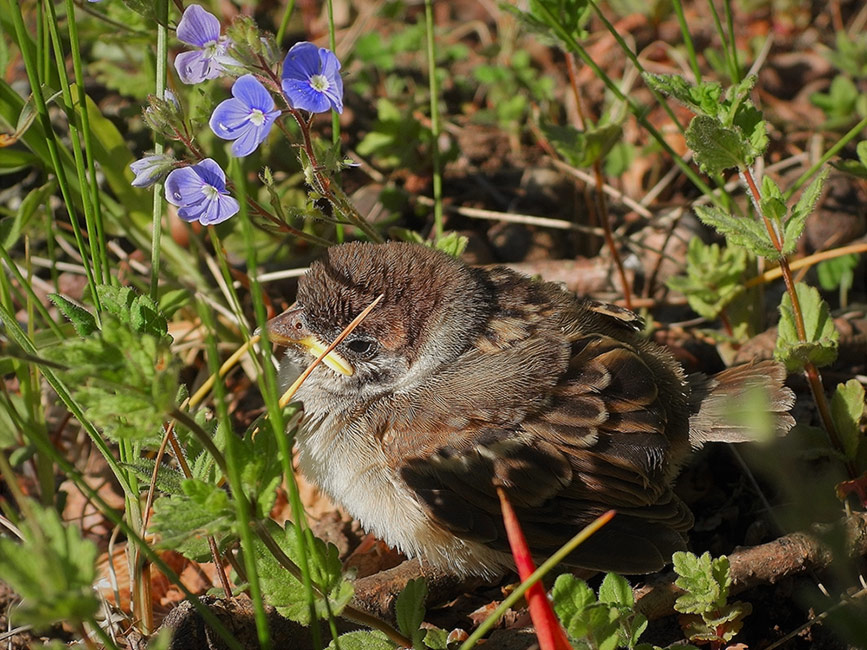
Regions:
[[[24,541],[0,537],[0,576],[22,598],[15,619],[38,629],[64,621],[75,626],[99,608],[93,591],[97,548],[65,526],[52,508],[29,504],[32,519],[19,526]]]

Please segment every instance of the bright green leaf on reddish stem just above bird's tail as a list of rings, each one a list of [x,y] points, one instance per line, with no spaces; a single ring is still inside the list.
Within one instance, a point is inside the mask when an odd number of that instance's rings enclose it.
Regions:
[[[837,358],[839,334],[827,303],[813,287],[798,283],[795,285],[801,313],[804,318],[806,341],[798,338],[795,313],[789,294],[780,303],[780,325],[774,358],[782,361],[789,372],[803,370],[804,364],[812,362],[826,366]]]

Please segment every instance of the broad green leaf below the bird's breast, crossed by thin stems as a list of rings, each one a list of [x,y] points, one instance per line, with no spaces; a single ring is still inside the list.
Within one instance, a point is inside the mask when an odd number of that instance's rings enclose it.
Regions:
[[[266,524],[283,552],[298,564],[300,557],[298,536],[291,522],[287,523],[285,530],[270,520]],[[262,593],[268,604],[273,605],[282,616],[304,625],[309,624],[310,607],[303,585],[277,562],[258,538],[254,541],[254,551]],[[326,544],[321,539],[313,538],[313,547],[308,546],[307,553],[314,583],[319,586],[322,593],[328,595],[331,613],[339,615],[352,599],[353,589],[352,583],[343,577],[343,567],[337,548],[333,544]],[[328,616],[328,608],[325,607],[321,597],[316,597],[314,608],[318,617]]]

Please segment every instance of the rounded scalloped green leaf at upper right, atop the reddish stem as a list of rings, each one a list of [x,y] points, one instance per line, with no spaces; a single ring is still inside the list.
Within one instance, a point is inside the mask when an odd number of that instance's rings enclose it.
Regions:
[[[692,119],[686,130],[686,144],[701,170],[710,175],[732,167],[746,167],[755,159],[752,144],[740,128],[723,126],[706,115]]]

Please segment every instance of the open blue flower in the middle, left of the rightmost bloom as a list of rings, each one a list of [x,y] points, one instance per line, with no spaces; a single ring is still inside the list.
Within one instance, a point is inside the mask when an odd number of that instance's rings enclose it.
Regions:
[[[208,124],[217,137],[235,141],[233,156],[249,156],[268,137],[280,111],[274,110],[271,93],[251,74],[235,82],[232,97],[220,102]]]

